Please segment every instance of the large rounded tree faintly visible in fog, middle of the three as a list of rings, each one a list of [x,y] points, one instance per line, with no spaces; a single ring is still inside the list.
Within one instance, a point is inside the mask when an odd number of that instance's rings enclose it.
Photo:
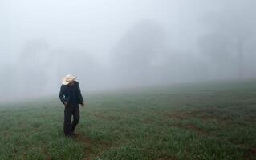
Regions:
[[[161,61],[166,52],[165,41],[165,31],[156,22],[142,21],[128,30],[114,49],[120,82],[128,86],[152,82],[156,59]]]

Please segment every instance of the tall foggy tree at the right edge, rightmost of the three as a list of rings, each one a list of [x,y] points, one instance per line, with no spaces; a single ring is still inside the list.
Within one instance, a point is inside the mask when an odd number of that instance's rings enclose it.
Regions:
[[[211,31],[201,38],[201,49],[214,63],[216,74],[246,77],[246,56],[252,54],[248,49],[255,42],[253,4],[255,2],[250,0],[232,1],[221,13],[205,18]]]

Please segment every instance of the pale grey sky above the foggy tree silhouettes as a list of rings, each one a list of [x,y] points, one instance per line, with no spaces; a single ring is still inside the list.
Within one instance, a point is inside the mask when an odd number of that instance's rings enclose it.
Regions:
[[[144,19],[160,23],[175,39],[173,46],[189,42],[193,47],[194,38],[204,30],[201,15],[221,6],[203,0],[20,0],[7,5],[10,10],[4,14],[10,17],[6,21],[10,21],[12,54],[18,54],[27,40],[46,38],[52,47],[84,49],[102,61],[126,30]]]

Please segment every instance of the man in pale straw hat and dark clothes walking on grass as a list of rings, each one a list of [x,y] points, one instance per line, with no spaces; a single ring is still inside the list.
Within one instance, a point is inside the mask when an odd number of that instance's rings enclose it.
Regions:
[[[67,137],[75,136],[75,126],[79,122],[79,104],[84,106],[83,97],[79,88],[79,82],[75,81],[76,77],[67,75],[63,78],[63,84],[60,87],[59,98],[65,106],[64,110],[64,134]],[[71,122],[71,117],[73,121]]]

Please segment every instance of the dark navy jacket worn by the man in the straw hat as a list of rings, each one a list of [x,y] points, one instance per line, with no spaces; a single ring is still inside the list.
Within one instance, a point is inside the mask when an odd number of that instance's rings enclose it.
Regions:
[[[61,102],[67,104],[82,104],[83,97],[79,87],[79,82],[75,82],[74,86],[62,85],[59,91],[59,99]]]

